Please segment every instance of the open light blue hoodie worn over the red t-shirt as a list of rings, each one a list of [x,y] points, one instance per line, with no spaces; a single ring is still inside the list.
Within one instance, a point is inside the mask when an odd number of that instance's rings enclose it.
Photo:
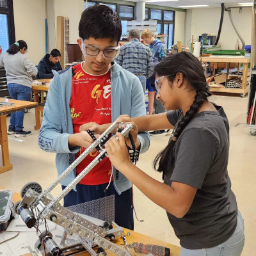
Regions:
[[[69,107],[72,92],[72,68],[59,73],[54,70],[53,72],[54,79],[51,81],[47,95],[38,145],[47,152],[57,153],[56,168],[60,175],[74,162],[80,147],[68,147],[68,137],[74,134]],[[120,115],[126,114],[131,117],[146,115],[145,98],[138,77],[115,62],[112,63],[110,74],[112,122]],[[90,106],[85,106],[85,108],[90,108]],[[144,153],[150,145],[150,136],[148,132],[140,132],[138,138],[141,143],[140,153]],[[61,184],[68,186],[75,178],[76,168],[61,181]],[[116,180],[115,168],[113,168],[113,180],[119,195],[131,188],[131,182],[122,173],[119,173],[118,180]]]

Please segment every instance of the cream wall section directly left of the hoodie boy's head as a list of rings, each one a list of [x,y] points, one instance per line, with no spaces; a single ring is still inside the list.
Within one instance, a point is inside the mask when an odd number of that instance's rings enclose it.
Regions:
[[[55,0],[55,20],[57,16],[69,18],[69,43],[76,44],[78,35],[78,24],[81,19],[81,13],[84,10],[83,0]],[[55,22],[56,24],[56,22]],[[56,28],[56,25],[55,25]]]

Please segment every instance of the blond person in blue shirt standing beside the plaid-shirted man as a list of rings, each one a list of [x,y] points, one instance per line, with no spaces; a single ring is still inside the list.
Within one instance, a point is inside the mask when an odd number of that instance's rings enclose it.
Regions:
[[[152,33],[152,31],[150,29],[144,29],[141,32],[141,39],[143,40],[143,42],[145,44],[148,45],[148,47],[151,49],[152,51],[152,56],[153,59],[157,60],[157,61],[162,61],[164,60],[164,58],[166,58],[166,52],[164,50],[163,44],[161,43],[161,41],[158,38],[155,38],[154,34]],[[152,79],[151,79],[152,81]],[[148,84],[149,86],[149,84]],[[154,87],[154,85],[151,87]],[[148,90],[149,92],[149,97],[152,97],[152,92],[150,92],[150,90]],[[163,104],[161,104],[161,102],[159,100],[156,99],[156,94],[154,94],[154,113],[164,113],[166,112],[166,109],[164,109]],[[160,130],[160,131],[152,131],[149,132],[149,134],[151,136],[165,136],[167,134],[167,131],[165,130]]]

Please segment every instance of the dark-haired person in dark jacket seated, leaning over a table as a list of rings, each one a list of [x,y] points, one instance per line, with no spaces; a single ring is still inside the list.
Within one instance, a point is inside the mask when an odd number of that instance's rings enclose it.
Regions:
[[[60,65],[60,57],[61,54],[58,49],[53,49],[50,54],[46,54],[38,63],[38,74],[36,79],[52,78],[52,70],[62,70]]]

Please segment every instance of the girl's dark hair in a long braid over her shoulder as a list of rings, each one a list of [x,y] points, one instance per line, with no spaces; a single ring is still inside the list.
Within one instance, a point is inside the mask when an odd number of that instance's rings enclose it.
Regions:
[[[183,79],[185,79],[190,88],[196,91],[195,100],[190,106],[190,109],[179,120],[179,123],[174,129],[172,141],[168,143],[159,154],[157,154],[154,160],[154,168],[158,172],[165,173],[170,166],[172,166],[174,159],[174,145],[179,138],[181,132],[193,119],[203,102],[211,95],[209,87],[204,75],[202,64],[193,54],[189,52],[180,52],[173,54],[163,61],[161,61],[155,67],[157,76],[168,76],[168,80],[172,83],[177,73],[182,73]],[[189,88],[188,88],[189,90]],[[157,168],[157,164],[159,166]]]

